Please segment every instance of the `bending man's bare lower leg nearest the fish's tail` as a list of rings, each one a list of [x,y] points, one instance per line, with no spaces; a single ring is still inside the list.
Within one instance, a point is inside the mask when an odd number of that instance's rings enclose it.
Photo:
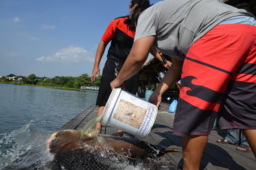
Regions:
[[[188,137],[182,137],[183,170],[199,169],[207,141],[208,136],[188,135]]]

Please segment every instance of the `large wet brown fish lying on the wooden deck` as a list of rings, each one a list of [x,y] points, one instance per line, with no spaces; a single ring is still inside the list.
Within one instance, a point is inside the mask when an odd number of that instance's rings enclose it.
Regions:
[[[123,137],[123,133],[115,135],[93,133],[97,130],[93,129],[84,134],[78,130],[61,130],[53,133],[47,141],[48,150],[55,154],[63,149],[82,149],[98,155],[112,154],[131,159],[136,156],[148,158],[166,152],[182,152],[137,138]]]

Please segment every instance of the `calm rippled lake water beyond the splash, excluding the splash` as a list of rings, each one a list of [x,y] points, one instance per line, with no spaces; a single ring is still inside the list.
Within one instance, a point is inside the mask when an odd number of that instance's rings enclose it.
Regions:
[[[0,84],[0,134],[32,121],[38,129],[57,130],[96,102],[97,91]]]

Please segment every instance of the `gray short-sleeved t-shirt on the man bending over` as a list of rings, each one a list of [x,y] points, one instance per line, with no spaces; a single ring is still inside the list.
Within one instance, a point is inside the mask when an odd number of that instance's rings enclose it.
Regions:
[[[163,54],[184,60],[195,41],[221,21],[238,15],[251,14],[218,0],[161,1],[140,15],[134,41],[155,35],[154,45]]]

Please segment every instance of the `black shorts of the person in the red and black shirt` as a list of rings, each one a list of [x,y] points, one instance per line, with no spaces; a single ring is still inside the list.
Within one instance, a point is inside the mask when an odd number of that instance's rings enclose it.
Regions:
[[[123,65],[118,64],[119,71]],[[99,92],[96,100],[97,106],[106,106],[108,98],[112,92],[110,83],[116,78],[114,70],[116,68],[115,62],[106,61],[102,71],[101,83],[99,84]],[[125,88],[128,92],[136,94],[138,91],[138,73],[124,82]]]

